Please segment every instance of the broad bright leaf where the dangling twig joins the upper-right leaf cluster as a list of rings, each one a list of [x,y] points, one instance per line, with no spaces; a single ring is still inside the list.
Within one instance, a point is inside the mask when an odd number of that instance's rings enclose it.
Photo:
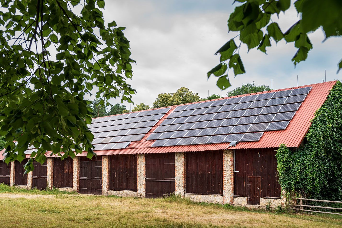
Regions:
[[[250,24],[240,33],[240,40],[248,46],[248,50],[259,46],[263,38],[261,30],[257,29],[255,24]]]

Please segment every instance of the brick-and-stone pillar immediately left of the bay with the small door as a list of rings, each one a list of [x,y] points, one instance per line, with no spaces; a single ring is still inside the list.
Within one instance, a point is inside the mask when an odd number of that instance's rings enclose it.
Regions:
[[[234,157],[233,150],[223,151],[223,204],[234,204]]]

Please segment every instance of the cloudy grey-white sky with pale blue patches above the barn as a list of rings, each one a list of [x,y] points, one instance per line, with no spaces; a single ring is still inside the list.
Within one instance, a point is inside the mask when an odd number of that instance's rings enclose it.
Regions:
[[[175,92],[182,86],[198,92],[201,97],[216,93],[225,96],[227,90],[216,87],[216,78],[207,80],[206,73],[219,63],[214,53],[230,38],[227,19],[237,4],[227,0],[107,0],[105,21],[115,20],[130,40],[134,76],[129,83],[137,94],[135,104],[145,102],[152,105],[159,93]],[[293,7],[281,13],[279,26],[285,32],[298,15]],[[318,29],[309,35],[314,49],[308,59],[294,68],[291,59],[296,52],[294,43],[284,40],[267,49],[267,55],[256,48],[247,53],[241,47],[240,55],[246,74],[230,75],[232,90],[242,83],[255,81],[281,89],[299,85],[320,83],[325,80],[341,80],[342,71],[337,74],[337,64],[342,58],[342,43],[338,38],[325,42],[323,32]],[[236,40],[236,43],[238,40]],[[110,100],[112,104],[119,99]],[[133,105],[127,104],[128,109]]]

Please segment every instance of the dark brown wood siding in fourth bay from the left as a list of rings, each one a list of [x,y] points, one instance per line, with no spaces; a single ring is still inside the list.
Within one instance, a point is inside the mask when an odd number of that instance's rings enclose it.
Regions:
[[[73,159],[53,159],[53,186],[62,188],[73,187]]]

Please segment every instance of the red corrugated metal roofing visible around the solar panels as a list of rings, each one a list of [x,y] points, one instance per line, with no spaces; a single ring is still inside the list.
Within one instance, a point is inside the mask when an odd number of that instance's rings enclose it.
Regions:
[[[155,140],[146,140],[147,137],[166,119],[166,117],[177,106],[174,105],[171,109],[160,119],[160,121],[140,140],[131,142],[127,148],[115,150],[98,150],[95,151],[97,155],[112,155],[112,154],[144,154],[144,153],[167,153],[167,152],[193,152],[193,151],[211,151],[224,149],[252,149],[252,148],[277,148],[281,143],[285,143],[288,147],[299,147],[302,143],[310,125],[311,120],[315,116],[315,112],[326,100],[329,91],[336,84],[336,81],[328,81],[325,83],[299,86],[287,89],[278,89],[272,91],[264,91],[259,93],[250,93],[234,97],[250,96],[253,94],[261,94],[268,92],[277,92],[288,89],[297,89],[304,87],[312,87],[310,93],[307,95],[299,110],[294,115],[290,124],[285,130],[265,131],[264,135],[257,142],[240,142],[235,147],[229,147],[229,143],[215,143],[215,144],[201,144],[201,145],[179,145],[169,147],[151,147]],[[221,100],[226,98],[214,99]],[[201,103],[206,101],[194,102]],[[189,103],[188,103],[189,104]],[[120,115],[120,114],[119,114]],[[100,117],[101,118],[101,117]],[[2,151],[3,152],[3,151]],[[87,153],[83,152],[77,156],[85,156]],[[46,154],[50,157],[50,153]],[[29,154],[27,155],[29,157]]]

